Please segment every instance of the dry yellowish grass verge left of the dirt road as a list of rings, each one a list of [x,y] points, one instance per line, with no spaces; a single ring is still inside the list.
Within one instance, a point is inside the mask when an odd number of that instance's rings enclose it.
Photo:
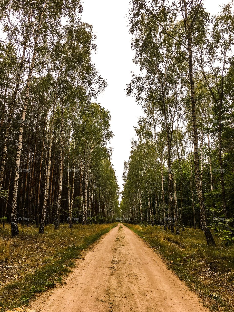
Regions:
[[[117,223],[52,225],[38,234],[36,227],[19,226],[19,236],[11,239],[11,229],[0,228],[0,311],[27,305],[36,293],[55,287],[75,265],[81,251],[110,231]]]

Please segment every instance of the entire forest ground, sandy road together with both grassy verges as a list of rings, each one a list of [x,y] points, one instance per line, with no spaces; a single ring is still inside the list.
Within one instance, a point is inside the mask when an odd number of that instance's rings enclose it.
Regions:
[[[13,240],[1,229],[2,311],[234,311],[233,247],[207,246],[200,230],[115,225],[22,227]]]

